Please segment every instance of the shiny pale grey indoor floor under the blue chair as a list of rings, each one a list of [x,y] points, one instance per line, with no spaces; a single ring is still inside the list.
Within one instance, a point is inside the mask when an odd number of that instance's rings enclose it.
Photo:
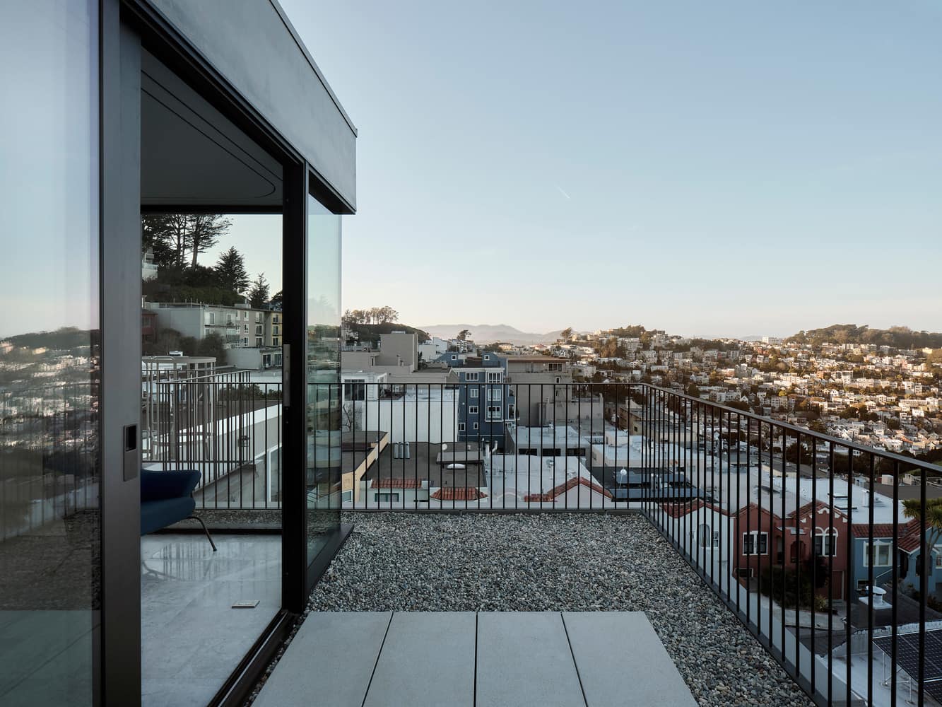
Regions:
[[[217,552],[200,534],[140,540],[144,707],[204,707],[281,606],[280,535],[213,539]]]

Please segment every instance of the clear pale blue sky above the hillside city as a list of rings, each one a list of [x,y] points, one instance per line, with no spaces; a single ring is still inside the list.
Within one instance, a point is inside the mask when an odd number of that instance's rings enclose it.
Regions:
[[[345,307],[942,330],[942,4],[282,0],[360,131]]]

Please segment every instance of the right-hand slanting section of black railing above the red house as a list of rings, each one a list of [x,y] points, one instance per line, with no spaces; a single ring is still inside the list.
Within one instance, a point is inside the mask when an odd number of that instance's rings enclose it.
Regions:
[[[933,657],[942,655],[942,614],[933,609],[942,522],[929,491],[942,469],[670,390],[639,390],[643,434],[674,435],[644,447],[644,466],[680,458],[708,492],[690,502],[644,499],[643,514],[812,699],[942,699]],[[901,484],[904,476],[915,484]]]

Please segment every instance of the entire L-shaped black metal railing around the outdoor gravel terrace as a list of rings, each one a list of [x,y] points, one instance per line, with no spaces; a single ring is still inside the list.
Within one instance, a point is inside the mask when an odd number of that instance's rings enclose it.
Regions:
[[[641,511],[817,703],[942,698],[942,469],[655,386],[479,378],[332,390],[343,507]]]

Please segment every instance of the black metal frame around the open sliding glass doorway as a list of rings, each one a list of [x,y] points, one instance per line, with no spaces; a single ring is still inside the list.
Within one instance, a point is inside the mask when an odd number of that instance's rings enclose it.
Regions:
[[[139,480],[124,478],[123,426],[139,424],[140,53],[168,65],[283,165],[284,415],[282,609],[210,704],[242,704],[313,584],[349,533],[338,531],[309,566],[306,556],[307,197],[335,213],[353,208],[146,0],[99,0],[102,303],[102,628],[96,698],[140,703]],[[191,208],[189,210],[192,210]],[[234,209],[235,210],[235,209]],[[241,209],[244,210],[244,209]],[[137,342],[137,351],[128,348]],[[139,432],[138,432],[139,439]],[[138,452],[139,462],[139,452]],[[136,465],[139,468],[139,464]],[[338,509],[339,510],[339,509]]]

